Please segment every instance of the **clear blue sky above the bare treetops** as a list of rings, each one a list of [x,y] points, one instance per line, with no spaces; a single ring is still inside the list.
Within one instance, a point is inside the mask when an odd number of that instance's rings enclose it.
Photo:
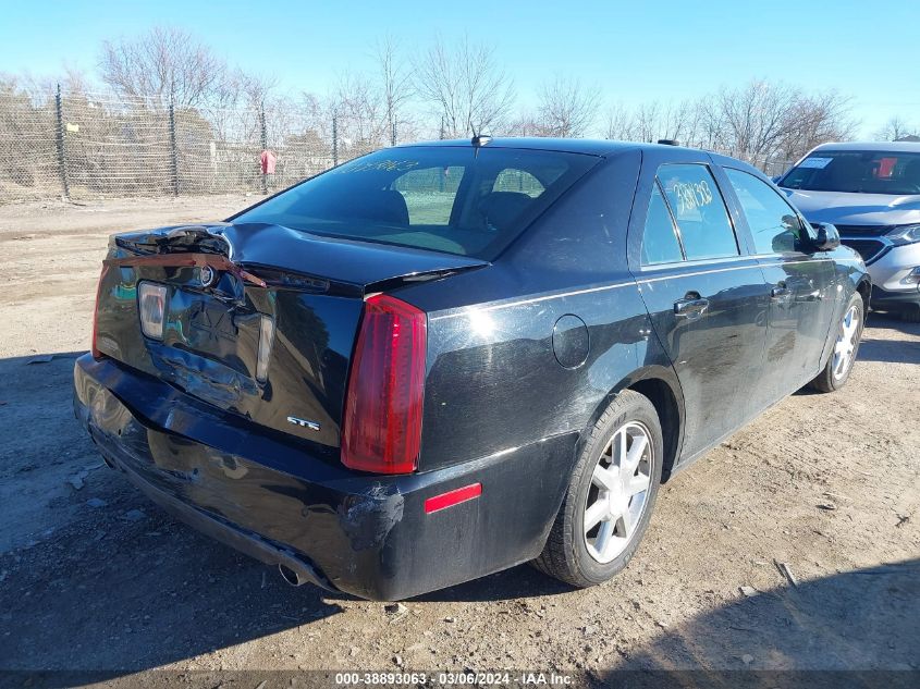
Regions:
[[[88,72],[106,38],[181,26],[229,62],[282,88],[324,94],[343,70],[372,66],[389,33],[412,53],[440,34],[495,47],[523,106],[540,82],[576,75],[608,102],[682,100],[751,78],[854,97],[870,135],[890,116],[920,120],[920,11],[903,2],[339,2],[41,3],[0,0],[0,71]]]

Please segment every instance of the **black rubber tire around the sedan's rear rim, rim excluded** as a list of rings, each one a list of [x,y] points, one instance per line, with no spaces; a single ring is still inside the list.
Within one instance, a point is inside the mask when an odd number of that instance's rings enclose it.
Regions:
[[[582,527],[585,509],[592,490],[592,476],[601,459],[601,454],[616,431],[630,422],[639,423],[649,431],[651,453],[646,465],[649,485],[645,492],[645,507],[641,517],[634,526],[625,550],[611,562],[601,563],[588,551]],[[533,561],[533,566],[551,577],[579,588],[603,583],[622,570],[636,553],[651,519],[661,483],[663,451],[661,423],[652,403],[637,392],[630,390],[621,392],[591,430],[591,435],[575,464],[568,489],[550,529],[547,544],[540,556]]]

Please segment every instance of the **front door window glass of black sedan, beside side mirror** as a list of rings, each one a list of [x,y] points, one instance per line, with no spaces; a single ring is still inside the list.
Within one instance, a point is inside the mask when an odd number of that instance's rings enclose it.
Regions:
[[[798,216],[780,194],[756,176],[725,168],[725,174],[738,195],[748,219],[758,254],[802,251],[802,225]]]

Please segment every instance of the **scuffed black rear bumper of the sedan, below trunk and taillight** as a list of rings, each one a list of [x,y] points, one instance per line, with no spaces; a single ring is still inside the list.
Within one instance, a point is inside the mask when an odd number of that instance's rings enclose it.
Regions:
[[[400,600],[526,562],[542,550],[574,459],[560,435],[398,477],[351,471],[111,359],[74,368],[74,410],[107,460],[198,530],[304,581]],[[479,482],[432,514],[425,501]]]

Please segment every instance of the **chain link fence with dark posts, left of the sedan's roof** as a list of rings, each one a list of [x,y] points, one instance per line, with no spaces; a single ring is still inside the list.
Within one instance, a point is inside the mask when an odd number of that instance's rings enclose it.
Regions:
[[[157,106],[4,94],[0,204],[65,197],[269,194],[384,143],[339,136],[295,109]],[[271,162],[263,168],[263,153]]]

